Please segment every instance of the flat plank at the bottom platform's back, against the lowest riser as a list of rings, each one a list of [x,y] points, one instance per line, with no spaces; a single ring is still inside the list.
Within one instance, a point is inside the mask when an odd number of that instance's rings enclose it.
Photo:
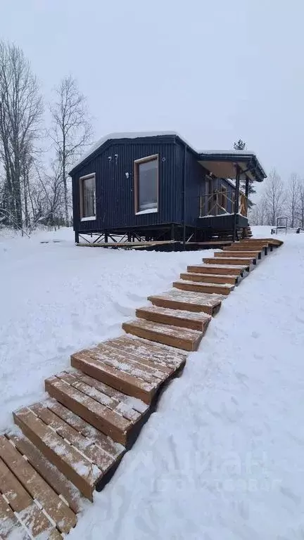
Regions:
[[[73,512],[80,512],[82,496],[80,491],[65,478],[63,473],[53,465],[42,452],[23,435],[10,435],[11,441],[21,454],[26,456],[27,461],[37,470],[39,475],[53,488],[58,495],[63,496]]]

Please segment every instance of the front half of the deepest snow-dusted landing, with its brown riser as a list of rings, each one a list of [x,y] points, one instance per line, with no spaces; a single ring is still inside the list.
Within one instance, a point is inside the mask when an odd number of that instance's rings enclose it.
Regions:
[[[101,344],[72,354],[71,365],[115,390],[150,404],[170,374],[158,368],[152,370],[131,355],[106,347]]]

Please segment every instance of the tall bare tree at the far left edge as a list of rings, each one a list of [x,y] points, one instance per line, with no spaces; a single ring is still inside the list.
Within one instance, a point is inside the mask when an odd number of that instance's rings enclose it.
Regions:
[[[39,136],[43,113],[37,79],[24,53],[0,42],[0,159],[4,165],[1,205],[8,222],[22,228],[27,209],[28,164]],[[27,210],[26,210],[27,212]]]

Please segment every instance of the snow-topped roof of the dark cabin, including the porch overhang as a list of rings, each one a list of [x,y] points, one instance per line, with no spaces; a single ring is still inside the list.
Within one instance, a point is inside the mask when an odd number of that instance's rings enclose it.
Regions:
[[[150,139],[153,137],[167,138],[168,136],[175,137],[182,141],[198,159],[198,162],[208,169],[209,172],[222,178],[235,179],[234,165],[238,164],[243,172],[248,174],[249,178],[255,181],[262,181],[266,178],[266,174],[262,165],[258,161],[254,152],[249,150],[196,150],[191,144],[184,139],[177,131],[127,131],[125,133],[110,133],[103,136],[99,141],[94,143],[87,152],[85,152],[69,174],[75,172],[80,165],[84,164],[96,153],[99,153],[102,146],[108,143],[108,141],[117,139]],[[249,170],[248,170],[249,169]]]

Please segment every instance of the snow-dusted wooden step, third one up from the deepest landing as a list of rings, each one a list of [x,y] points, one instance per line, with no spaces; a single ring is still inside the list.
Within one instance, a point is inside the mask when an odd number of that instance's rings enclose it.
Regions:
[[[159,307],[169,307],[170,309],[182,309],[185,311],[204,311],[208,315],[216,315],[220,310],[222,295],[210,295],[205,293],[191,293],[175,288],[168,290],[161,295],[148,296],[148,300],[153,305]]]

